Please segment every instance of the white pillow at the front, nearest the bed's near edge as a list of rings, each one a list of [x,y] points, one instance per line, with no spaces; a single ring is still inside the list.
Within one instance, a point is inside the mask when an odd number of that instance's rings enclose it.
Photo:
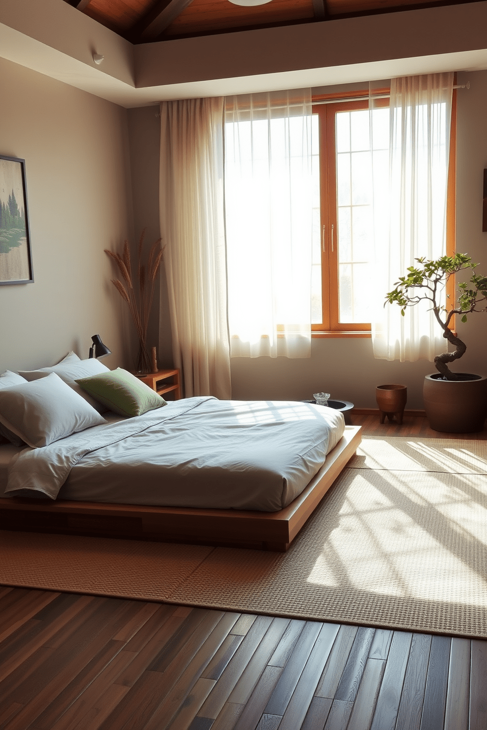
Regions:
[[[0,423],[37,448],[106,421],[51,373],[33,383],[1,388]]]

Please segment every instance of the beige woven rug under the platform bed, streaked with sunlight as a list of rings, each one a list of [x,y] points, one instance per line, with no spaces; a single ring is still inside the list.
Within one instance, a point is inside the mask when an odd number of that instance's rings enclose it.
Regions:
[[[0,583],[487,638],[487,443],[364,439],[288,553],[0,534]]]

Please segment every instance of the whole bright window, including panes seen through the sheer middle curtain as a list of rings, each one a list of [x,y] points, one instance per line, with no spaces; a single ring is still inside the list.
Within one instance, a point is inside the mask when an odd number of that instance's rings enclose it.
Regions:
[[[381,239],[386,243],[389,235],[388,215],[380,211],[388,210],[390,111],[388,90],[378,93],[372,114],[368,91],[364,91],[345,101],[313,99],[311,115],[308,106],[307,112],[294,111],[285,119],[277,107],[269,121],[257,115],[250,123],[247,116],[239,126],[227,115],[226,233],[227,264],[230,274],[233,272],[229,275],[232,337],[237,334],[256,341],[267,337],[265,333],[272,327],[283,332],[290,323],[298,331],[296,323],[309,317],[310,308],[311,328],[317,337],[369,337],[373,252],[375,243]],[[454,250],[455,101],[453,93],[447,253]],[[310,193],[304,183],[309,160]],[[311,261],[300,261],[300,239],[310,240],[310,214],[304,205],[310,198]],[[252,219],[251,233],[246,218]],[[258,258],[269,237],[274,247],[269,255]],[[304,276],[308,281],[304,299],[296,296],[291,274],[284,277],[280,270],[280,252],[285,248],[291,251],[286,265],[292,264],[294,271],[301,266],[309,272],[311,264],[310,284],[309,274]],[[397,277],[402,273],[398,271]],[[280,296],[274,296],[273,304],[266,307],[263,297],[269,299],[273,277],[291,285],[281,289]],[[254,292],[251,296],[250,290]],[[264,320],[264,312],[272,322]],[[247,331],[251,327],[253,334]]]

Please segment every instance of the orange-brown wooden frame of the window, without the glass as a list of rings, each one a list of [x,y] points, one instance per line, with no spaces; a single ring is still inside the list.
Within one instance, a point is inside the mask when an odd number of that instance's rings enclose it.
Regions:
[[[388,94],[390,89],[380,89],[378,93]],[[313,96],[312,101],[326,101],[315,104],[313,114],[319,118],[320,145],[320,205],[321,205],[321,296],[323,322],[312,324],[312,337],[371,337],[370,323],[342,323],[339,321],[338,291],[338,255],[337,255],[337,170],[335,145],[335,115],[338,111],[368,109],[368,99],[364,97],[369,91],[358,91],[344,100],[343,94],[329,96]],[[340,97],[340,101],[334,98]],[[380,101],[388,106],[388,100]],[[324,228],[323,228],[324,226]],[[332,228],[333,226],[333,228]],[[456,89],[453,89],[451,125],[450,125],[450,158],[448,167],[447,220],[446,220],[446,253],[455,253],[456,226]],[[324,231],[324,233],[323,233]],[[334,235],[333,246],[331,235]],[[324,245],[323,245],[324,244]],[[398,277],[401,272],[398,272]],[[447,295],[453,301],[455,282],[453,277],[447,283]],[[384,292],[384,297],[386,292]],[[454,323],[452,323],[454,329]]]

